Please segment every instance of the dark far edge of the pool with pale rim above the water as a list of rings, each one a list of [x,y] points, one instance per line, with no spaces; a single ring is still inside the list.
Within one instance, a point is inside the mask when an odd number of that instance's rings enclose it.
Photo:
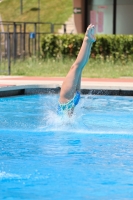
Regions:
[[[30,94],[58,94],[60,92],[60,85],[21,85],[21,86],[7,86],[0,88],[0,97],[9,97],[17,95]],[[119,87],[97,87],[97,86],[82,86],[82,94],[92,95],[118,95],[118,96],[133,96],[133,88],[119,88]]]

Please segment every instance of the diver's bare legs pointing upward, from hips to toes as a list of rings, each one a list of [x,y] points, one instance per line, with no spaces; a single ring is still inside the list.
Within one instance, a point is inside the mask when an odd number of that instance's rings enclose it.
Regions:
[[[94,41],[94,26],[89,25],[77,59],[71,66],[62,84],[59,99],[60,103],[66,103],[73,98],[77,86],[79,85],[79,81],[81,80],[82,70],[90,57],[91,47]]]

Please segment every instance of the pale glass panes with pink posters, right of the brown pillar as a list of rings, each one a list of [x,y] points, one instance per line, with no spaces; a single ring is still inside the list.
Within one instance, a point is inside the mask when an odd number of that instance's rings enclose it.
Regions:
[[[117,0],[116,34],[133,34],[133,0]],[[97,34],[112,34],[114,0],[88,0],[87,22],[95,24]]]

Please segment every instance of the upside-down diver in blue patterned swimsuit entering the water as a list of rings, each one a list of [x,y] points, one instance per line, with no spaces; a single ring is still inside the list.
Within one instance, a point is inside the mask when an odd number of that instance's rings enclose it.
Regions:
[[[96,41],[95,26],[90,24],[86,30],[78,56],[71,66],[61,86],[58,102],[58,113],[72,116],[80,99],[82,70],[89,60],[92,44]]]

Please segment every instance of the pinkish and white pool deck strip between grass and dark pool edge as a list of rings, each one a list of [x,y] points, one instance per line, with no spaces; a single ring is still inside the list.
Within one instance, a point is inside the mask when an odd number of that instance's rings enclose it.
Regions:
[[[60,88],[64,77],[0,76],[0,93],[26,88]],[[130,91],[133,78],[82,78],[82,90]]]

